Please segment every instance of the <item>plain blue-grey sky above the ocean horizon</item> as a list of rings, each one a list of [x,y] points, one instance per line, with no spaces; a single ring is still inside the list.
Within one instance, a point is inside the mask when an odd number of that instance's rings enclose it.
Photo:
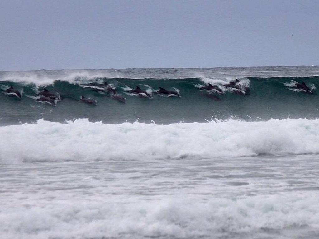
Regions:
[[[318,12],[305,0],[2,0],[0,70],[319,65]]]

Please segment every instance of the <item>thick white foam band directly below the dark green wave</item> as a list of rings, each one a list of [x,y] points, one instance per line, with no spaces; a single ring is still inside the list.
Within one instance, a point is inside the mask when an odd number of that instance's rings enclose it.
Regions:
[[[0,127],[0,135],[2,163],[319,154],[319,120],[307,119],[170,125],[38,120]]]

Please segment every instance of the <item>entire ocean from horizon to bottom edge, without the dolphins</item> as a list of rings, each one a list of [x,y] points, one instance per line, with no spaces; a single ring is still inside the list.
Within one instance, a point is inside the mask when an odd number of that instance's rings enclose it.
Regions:
[[[125,104],[93,91],[104,80]],[[318,238],[318,80],[318,66],[2,71],[1,238]],[[56,106],[36,101],[44,87]]]

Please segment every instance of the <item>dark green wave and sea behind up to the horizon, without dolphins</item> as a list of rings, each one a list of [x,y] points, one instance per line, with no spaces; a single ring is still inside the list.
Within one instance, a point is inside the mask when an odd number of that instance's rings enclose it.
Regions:
[[[88,118],[104,123],[138,120],[160,124],[230,117],[245,121],[288,117],[315,119],[319,116],[318,69],[255,67],[0,72],[0,124],[30,123],[42,118],[55,122]],[[102,81],[103,77],[126,98],[126,104],[86,87],[89,83]],[[249,92],[222,86],[235,78],[240,79]],[[293,87],[295,82],[303,81],[313,94],[305,94]],[[208,83],[218,85],[223,94],[200,89]],[[22,100],[4,93],[10,85],[22,93]],[[140,98],[127,92],[136,85],[149,92],[152,98]],[[35,101],[44,87],[60,94],[62,100],[55,107]],[[158,87],[178,91],[180,97],[155,94]],[[96,99],[97,106],[80,102],[82,95]]]

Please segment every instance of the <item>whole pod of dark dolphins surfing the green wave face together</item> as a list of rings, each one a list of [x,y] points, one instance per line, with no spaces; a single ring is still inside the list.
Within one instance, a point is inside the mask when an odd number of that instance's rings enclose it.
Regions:
[[[294,81],[294,84],[295,85],[292,86],[292,88],[299,89],[300,91],[302,91],[304,93],[313,94],[313,92],[310,90],[310,88],[306,85],[305,82],[298,83],[298,82]],[[238,80],[238,79],[235,79],[234,81],[231,81],[228,84],[223,84],[223,86],[228,87],[228,88],[232,88],[234,90],[233,91],[234,93],[240,94],[240,95],[249,94],[249,92],[250,92],[249,87],[242,86],[240,84],[240,80]],[[125,103],[125,98],[122,95],[118,94],[116,89],[113,88],[111,85],[109,85],[106,81],[104,81],[104,83],[90,83],[88,85],[85,85],[85,88],[91,88],[93,91],[98,92],[98,93],[108,93],[108,94],[110,94],[110,96],[109,96],[110,98],[113,98],[117,101]],[[210,93],[212,91],[215,91],[219,94],[224,93],[224,91],[221,88],[219,88],[218,85],[212,85],[210,83],[206,86],[202,86],[200,89],[204,90],[204,91],[209,91]],[[14,96],[14,97],[17,97],[19,99],[22,99],[21,93],[18,90],[14,89],[12,85],[10,86],[10,88],[5,90],[5,92],[9,96]],[[131,93],[131,94],[135,94],[135,95],[142,97],[142,98],[151,98],[152,97],[149,93],[142,90],[139,86],[136,86],[136,89],[130,89],[126,92]],[[161,94],[161,95],[166,95],[166,96],[180,96],[179,92],[169,91],[169,90],[166,90],[162,87],[159,87],[159,90],[155,91],[155,93]],[[206,96],[213,99],[213,100],[220,101],[220,98],[218,98],[217,96],[215,96],[213,94],[208,94]],[[43,91],[41,91],[38,94],[38,97],[36,98],[36,101],[42,102],[42,103],[47,103],[49,105],[56,105],[57,101],[60,101],[60,100],[61,100],[61,97],[59,94],[50,92],[46,88],[44,88]],[[85,98],[85,96],[81,96],[79,101],[86,103],[86,104],[90,104],[90,105],[97,105],[97,100],[94,100],[91,98]]]

